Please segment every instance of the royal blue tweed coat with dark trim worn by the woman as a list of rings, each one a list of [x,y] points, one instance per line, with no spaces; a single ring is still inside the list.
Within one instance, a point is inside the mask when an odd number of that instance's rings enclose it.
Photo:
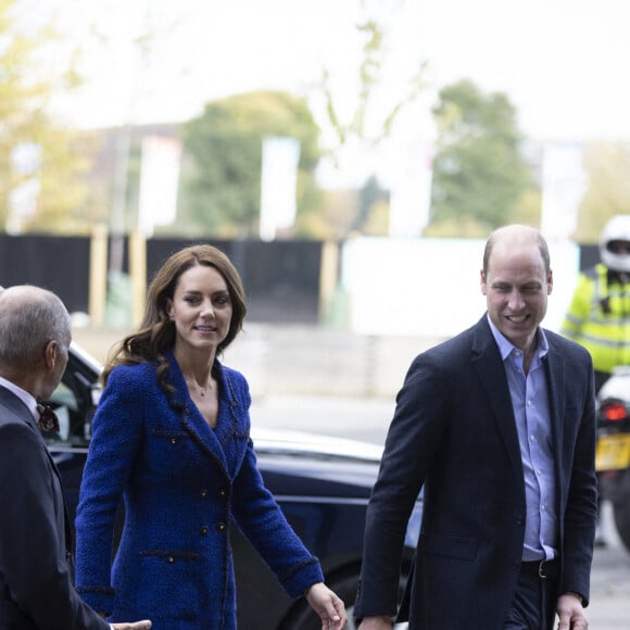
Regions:
[[[322,569],[263,486],[244,377],[216,363],[219,411],[212,429],[173,355],[168,361],[173,394],[158,386],[152,363],[116,367],[110,375],[77,511],[77,588],[111,621],[150,618],[153,630],[230,630],[230,518],[289,595],[323,580]],[[121,495],[126,520],[112,565]]]

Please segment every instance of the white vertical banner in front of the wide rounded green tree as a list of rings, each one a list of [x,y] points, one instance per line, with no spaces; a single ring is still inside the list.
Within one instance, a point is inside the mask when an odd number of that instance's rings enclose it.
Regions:
[[[299,163],[300,141],[295,138],[263,140],[260,236],[264,241],[273,241],[278,228],[295,222]]]

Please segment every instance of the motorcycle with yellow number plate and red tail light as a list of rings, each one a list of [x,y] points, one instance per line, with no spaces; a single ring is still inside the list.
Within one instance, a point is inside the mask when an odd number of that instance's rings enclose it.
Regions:
[[[615,368],[602,386],[596,418],[600,495],[612,503],[617,532],[630,552],[630,366]]]

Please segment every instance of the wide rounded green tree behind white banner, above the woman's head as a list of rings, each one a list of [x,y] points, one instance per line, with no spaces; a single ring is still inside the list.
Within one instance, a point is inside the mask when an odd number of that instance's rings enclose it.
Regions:
[[[209,103],[201,116],[185,124],[180,222],[206,235],[257,235],[262,147],[267,136],[300,141],[298,223],[300,215],[312,211],[319,202],[313,178],[319,129],[303,99],[261,91]]]

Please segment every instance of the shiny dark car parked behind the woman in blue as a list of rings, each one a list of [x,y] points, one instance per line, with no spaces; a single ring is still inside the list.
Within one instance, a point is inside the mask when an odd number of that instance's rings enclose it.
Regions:
[[[74,520],[91,419],[100,396],[101,366],[72,345],[62,383],[50,404],[61,430],[46,436],[61,470]],[[252,430],[259,467],[287,519],[324,568],[326,581],[345,602],[355,600],[365,513],[381,449],[374,444],[302,432]],[[421,503],[410,520],[401,592],[417,540]],[[238,622],[244,630],[319,630],[305,601],[289,598],[237,527],[231,532]],[[401,625],[400,628],[405,626]],[[348,628],[354,628],[352,620]]]

